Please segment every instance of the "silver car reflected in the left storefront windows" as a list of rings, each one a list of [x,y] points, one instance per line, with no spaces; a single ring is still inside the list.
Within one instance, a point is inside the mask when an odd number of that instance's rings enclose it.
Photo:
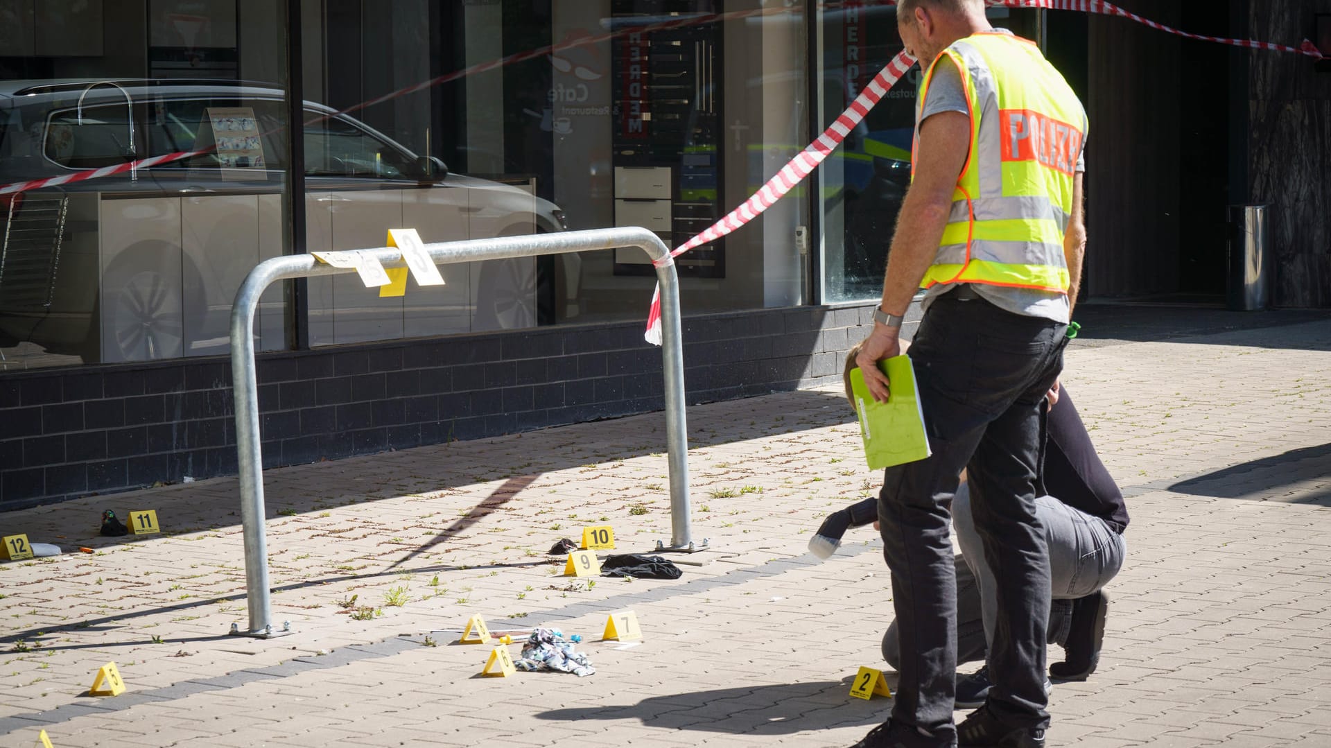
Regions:
[[[80,105],[81,98],[81,105]],[[194,149],[112,177],[0,196],[0,349],[31,341],[85,362],[225,353],[236,289],[282,253],[282,92],[200,81],[0,84],[0,185]],[[522,189],[449,173],[346,114],[306,102],[309,252],[564,229]],[[310,281],[314,343],[535,323],[531,260],[445,266],[442,289],[379,299],[355,277]],[[281,287],[260,310],[281,349]]]

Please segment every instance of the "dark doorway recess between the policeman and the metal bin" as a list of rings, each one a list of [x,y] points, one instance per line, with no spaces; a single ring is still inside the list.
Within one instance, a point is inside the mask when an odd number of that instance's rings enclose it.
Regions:
[[[1187,32],[1235,36],[1231,15],[1217,12],[1214,0],[1123,4]],[[1079,36],[1051,31],[1051,55],[1058,47],[1074,55],[1071,39]],[[1085,39],[1091,125],[1083,295],[1222,303],[1226,206],[1242,201],[1230,194],[1230,170],[1246,158],[1231,148],[1230,128],[1240,125],[1230,112],[1229,48],[1109,16],[1090,16]]]

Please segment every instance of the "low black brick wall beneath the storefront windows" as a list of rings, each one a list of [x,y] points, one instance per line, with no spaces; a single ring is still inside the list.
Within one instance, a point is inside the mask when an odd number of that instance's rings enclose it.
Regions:
[[[688,402],[835,382],[872,307],[684,319]],[[264,354],[264,466],[660,410],[642,322]],[[230,475],[225,357],[0,374],[0,510]]]

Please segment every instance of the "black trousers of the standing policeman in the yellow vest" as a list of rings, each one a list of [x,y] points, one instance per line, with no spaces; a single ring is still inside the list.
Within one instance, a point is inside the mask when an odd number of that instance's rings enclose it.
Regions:
[[[889,467],[878,494],[901,667],[893,721],[956,741],[957,598],[948,518],[965,467],[985,560],[998,579],[989,709],[1045,725],[1049,548],[1036,515],[1045,393],[1062,369],[1066,325],[957,293],[930,305],[910,343],[933,455]]]

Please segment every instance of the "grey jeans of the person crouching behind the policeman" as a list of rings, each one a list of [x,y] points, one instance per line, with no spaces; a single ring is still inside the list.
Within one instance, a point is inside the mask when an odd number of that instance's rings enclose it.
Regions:
[[[1049,643],[1062,646],[1067,640],[1067,627],[1071,624],[1071,604],[1067,600],[1083,598],[1101,590],[1118,574],[1123,566],[1126,544],[1105,524],[1103,519],[1081,512],[1053,496],[1036,499],[1036,510],[1045,526],[1049,542],[1049,566],[1051,576],[1053,604],[1049,610]],[[985,555],[980,548],[980,535],[970,516],[970,491],[962,483],[952,499],[952,522],[962,555],[953,560],[957,567],[957,663],[984,660],[989,654],[989,636],[985,627],[993,630],[993,590],[985,596],[976,579],[974,567],[992,579],[985,566]],[[965,548],[970,551],[965,551]],[[985,608],[990,610],[985,616]],[[893,668],[901,661],[901,639],[897,623],[892,622],[882,635],[882,659]]]

